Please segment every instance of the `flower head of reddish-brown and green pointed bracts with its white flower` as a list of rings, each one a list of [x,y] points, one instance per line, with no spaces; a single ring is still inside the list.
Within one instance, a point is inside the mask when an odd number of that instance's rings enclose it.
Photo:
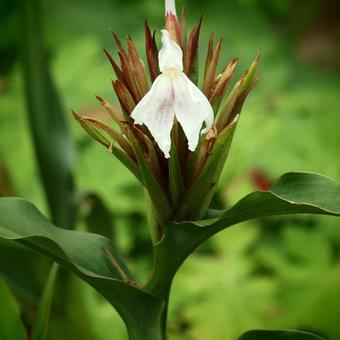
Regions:
[[[249,70],[228,91],[238,60],[232,59],[218,73],[222,41],[214,46],[211,34],[199,87],[202,19],[185,39],[182,13],[178,19],[175,1],[165,1],[160,50],[155,33],[145,23],[148,72],[132,38],[128,36],[125,48],[113,33],[120,65],[108,51],[105,53],[117,78],[112,84],[121,110],[97,98],[119,132],[99,119],[74,114],[85,131],[145,187],[160,228],[171,220],[199,219],[206,214],[227,160],[242,105],[256,84],[259,62],[257,55]],[[162,232],[154,235],[157,241]]]

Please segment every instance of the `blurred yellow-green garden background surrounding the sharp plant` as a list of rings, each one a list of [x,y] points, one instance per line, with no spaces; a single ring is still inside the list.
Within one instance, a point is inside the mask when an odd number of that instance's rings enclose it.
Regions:
[[[26,115],[19,2],[0,1],[0,195],[24,197],[48,214]],[[340,180],[339,2],[178,0],[182,5],[189,27],[204,14],[201,60],[211,31],[223,38],[224,64],[240,58],[238,74],[262,51],[261,81],[244,106],[214,206],[226,208],[287,171]],[[100,114],[96,94],[117,104],[102,50],[116,51],[108,29],[130,34],[143,55],[144,20],[159,31],[163,11],[162,0],[45,0],[42,11],[52,73],[77,151],[77,228],[113,238],[142,278],[151,255],[143,190],[85,135],[71,108]],[[28,329],[48,268],[35,253],[0,242],[0,296],[10,295]],[[92,288],[73,278],[63,294],[65,275],[49,339],[126,339],[123,323]],[[340,222],[270,218],[223,232],[184,264],[173,286],[169,335],[234,340],[252,328],[299,328],[338,340],[339,321]]]

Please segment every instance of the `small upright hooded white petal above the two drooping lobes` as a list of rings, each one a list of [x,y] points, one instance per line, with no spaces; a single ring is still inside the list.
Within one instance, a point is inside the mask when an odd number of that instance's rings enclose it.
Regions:
[[[163,47],[158,54],[159,69],[161,72],[176,70],[180,73],[183,71],[182,49],[171,39],[167,30],[161,32]]]

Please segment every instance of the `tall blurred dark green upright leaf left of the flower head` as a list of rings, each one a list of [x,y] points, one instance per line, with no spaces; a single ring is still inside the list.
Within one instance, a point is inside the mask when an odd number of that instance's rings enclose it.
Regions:
[[[75,216],[73,144],[44,44],[39,0],[23,0],[22,61],[31,133],[52,220],[72,227]]]

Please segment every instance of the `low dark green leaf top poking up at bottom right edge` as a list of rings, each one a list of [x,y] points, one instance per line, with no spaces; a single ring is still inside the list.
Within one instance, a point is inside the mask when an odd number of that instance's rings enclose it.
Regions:
[[[238,340],[322,340],[318,335],[291,330],[253,330],[242,334]]]

